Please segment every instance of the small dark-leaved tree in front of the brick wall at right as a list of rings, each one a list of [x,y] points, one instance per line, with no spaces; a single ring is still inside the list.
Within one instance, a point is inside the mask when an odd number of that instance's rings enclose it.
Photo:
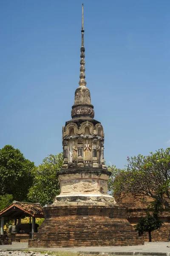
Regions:
[[[150,214],[152,211],[152,215]],[[140,218],[139,223],[134,226],[135,230],[139,231],[139,236],[142,236],[145,232],[149,234],[149,242],[152,241],[151,232],[157,230],[163,224],[163,221],[159,219],[159,214],[163,211],[162,204],[159,200],[154,200],[146,211],[146,216]]]

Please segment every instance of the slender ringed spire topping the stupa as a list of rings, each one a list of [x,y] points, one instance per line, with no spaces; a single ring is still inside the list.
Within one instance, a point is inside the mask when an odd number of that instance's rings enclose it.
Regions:
[[[84,6],[82,4],[82,47],[80,49],[81,54],[80,54],[80,81],[79,81],[79,86],[86,86],[86,81],[85,81],[85,47],[84,47]]]

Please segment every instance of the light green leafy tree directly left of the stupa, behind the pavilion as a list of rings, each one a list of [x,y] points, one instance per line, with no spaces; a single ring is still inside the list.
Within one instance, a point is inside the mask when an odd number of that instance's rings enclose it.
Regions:
[[[42,164],[32,171],[33,186],[29,189],[28,198],[39,202],[42,206],[51,204],[53,198],[59,195],[59,182],[57,173],[62,167],[63,154],[48,155]]]

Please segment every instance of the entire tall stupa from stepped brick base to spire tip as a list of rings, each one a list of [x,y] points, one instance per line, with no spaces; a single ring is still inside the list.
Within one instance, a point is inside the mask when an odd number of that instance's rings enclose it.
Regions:
[[[108,194],[104,131],[94,119],[94,106],[85,81],[84,12],[79,87],[72,119],[62,128],[63,166],[58,173],[60,194],[43,208],[45,220],[29,247],[84,247],[144,244],[127,221],[127,208]]]

